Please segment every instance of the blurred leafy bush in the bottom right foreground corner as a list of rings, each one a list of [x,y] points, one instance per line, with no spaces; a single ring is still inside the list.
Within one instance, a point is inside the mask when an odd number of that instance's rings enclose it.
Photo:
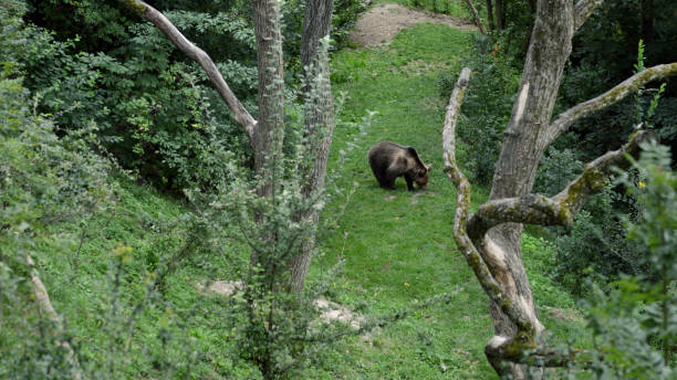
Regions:
[[[622,173],[618,182],[642,205],[639,218],[627,221],[628,239],[644,247],[637,262],[647,271],[646,275],[614,283],[615,289],[608,295],[594,288],[587,310],[596,337],[591,374],[600,379],[675,377],[677,176],[667,147],[648,142],[642,148],[642,158],[633,162],[638,180]]]

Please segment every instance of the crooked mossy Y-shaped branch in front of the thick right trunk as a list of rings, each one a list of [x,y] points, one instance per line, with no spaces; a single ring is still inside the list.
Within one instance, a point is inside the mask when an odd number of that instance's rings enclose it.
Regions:
[[[580,210],[585,198],[604,189],[613,167],[626,168],[629,165],[627,155],[637,157],[640,151],[639,144],[649,139],[652,134],[637,131],[621,149],[607,152],[587,163],[583,173],[555,197],[528,194],[492,200],[480,205],[477,213],[469,217],[470,182],[456,161],[455,137],[456,123],[469,75],[468,68],[464,68],[459,75],[449,98],[442,129],[444,170],[457,189],[454,240],[485,293],[499,305],[518,329],[512,337],[493,336],[485,347],[485,353],[499,374],[506,371],[507,361],[529,362],[539,367],[561,367],[573,360],[576,352],[559,356],[554,350],[541,347],[537,342],[537,326],[530,319],[528,312],[501,287],[485,261],[488,253],[486,250],[489,250],[485,236],[489,229],[507,222],[571,225],[573,215]]]

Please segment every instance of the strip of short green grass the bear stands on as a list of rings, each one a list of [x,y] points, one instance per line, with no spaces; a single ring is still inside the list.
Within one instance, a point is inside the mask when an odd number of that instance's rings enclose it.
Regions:
[[[470,34],[447,27],[418,24],[400,32],[388,48],[343,51],[332,68],[336,93],[350,98],[341,119],[358,122],[375,112],[366,135],[353,124],[337,125],[330,177],[340,188],[352,188],[337,230],[322,242],[325,256],[313,267],[319,276],[342,252],[344,277],[335,286],[340,300],[365,305],[367,314],[383,315],[441,293],[452,294],[438,304],[384,328],[373,344],[360,339],[344,344],[331,355],[331,376],[341,379],[486,379],[493,377],[483,356],[492,335],[488,299],[456,250],[451,236],[455,190],[441,171],[441,125],[445,99],[437,78],[441,70],[458,70],[458,57],[470,45]],[[392,140],[414,146],[421,159],[433,163],[428,189],[381,189],[366,161],[368,148]],[[356,148],[350,150],[350,145]],[[347,158],[338,166],[338,151]],[[486,199],[473,189],[476,202]],[[346,202],[338,198],[329,213]],[[543,242],[527,240],[529,252]],[[550,252],[552,253],[552,252]],[[540,305],[571,308],[565,292],[544,276],[548,257],[529,257],[528,265]],[[550,324],[562,336],[577,337],[581,323]],[[554,325],[554,326],[550,326]]]

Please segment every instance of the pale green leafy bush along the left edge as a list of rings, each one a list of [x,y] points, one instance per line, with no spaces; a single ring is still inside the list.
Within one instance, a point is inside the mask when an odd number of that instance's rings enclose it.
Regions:
[[[51,119],[30,114],[17,44],[29,49],[34,31],[24,30],[25,4],[0,7],[0,377],[73,378],[70,335],[35,299],[35,236],[50,235],[50,224],[79,220],[105,207],[111,162],[91,148],[95,126],[58,138]],[[55,240],[59,238],[54,236]],[[46,314],[46,315],[45,315]]]

